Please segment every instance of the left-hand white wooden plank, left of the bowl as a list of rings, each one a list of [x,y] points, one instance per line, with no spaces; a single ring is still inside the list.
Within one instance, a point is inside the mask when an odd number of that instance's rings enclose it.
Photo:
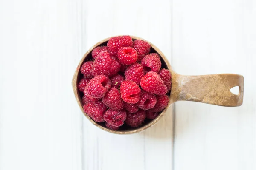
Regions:
[[[81,170],[79,0],[0,1],[0,170]]]

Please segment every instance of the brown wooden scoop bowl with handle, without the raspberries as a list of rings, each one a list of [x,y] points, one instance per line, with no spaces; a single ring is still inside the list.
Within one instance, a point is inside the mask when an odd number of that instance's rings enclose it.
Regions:
[[[134,40],[143,40],[142,38],[131,36]],[[84,113],[83,105],[82,105],[82,93],[77,89],[77,83],[81,79],[82,74],[80,73],[81,65],[88,60],[91,60],[91,52],[94,48],[99,45],[106,45],[108,40],[102,40],[96,43],[92,48],[90,48],[85,54],[84,57],[79,62],[75,74],[72,79],[73,91],[76,96],[76,100],[81,111]],[[146,40],[145,40],[146,41]],[[148,41],[147,41],[148,42]],[[156,124],[166,113],[166,110],[169,106],[177,101],[194,101],[194,102],[203,102],[212,105],[220,105],[220,106],[240,106],[243,102],[243,94],[244,94],[244,77],[238,74],[211,74],[211,75],[201,75],[201,76],[184,76],[177,74],[172,70],[171,65],[168,60],[164,56],[164,54],[151,42],[148,42],[151,45],[151,52],[156,52],[159,54],[162,62],[162,68],[169,69],[172,74],[172,88],[171,93],[169,94],[170,101],[167,107],[155,118],[154,120],[148,121],[144,123],[142,126],[137,128],[127,128],[125,130],[110,130],[105,127],[104,123],[94,122],[86,113],[84,115],[93,125],[96,125],[102,130],[116,133],[116,134],[130,134],[137,133],[142,130],[151,127]],[[230,89],[239,86],[239,94],[233,94],[230,92]]]

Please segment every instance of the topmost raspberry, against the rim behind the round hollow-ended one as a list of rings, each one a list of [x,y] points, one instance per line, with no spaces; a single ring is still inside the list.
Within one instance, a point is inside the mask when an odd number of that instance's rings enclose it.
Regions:
[[[128,35],[112,37],[108,40],[108,51],[111,55],[116,56],[117,52],[122,47],[131,47],[133,45],[132,39]]]

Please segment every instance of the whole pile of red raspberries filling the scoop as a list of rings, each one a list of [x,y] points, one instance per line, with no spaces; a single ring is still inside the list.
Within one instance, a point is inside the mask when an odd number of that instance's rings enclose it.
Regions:
[[[84,93],[84,112],[111,130],[126,124],[139,127],[155,119],[169,102],[171,74],[161,69],[160,57],[151,46],[130,36],[112,37],[107,46],[92,51],[84,62],[84,77],[77,87]]]

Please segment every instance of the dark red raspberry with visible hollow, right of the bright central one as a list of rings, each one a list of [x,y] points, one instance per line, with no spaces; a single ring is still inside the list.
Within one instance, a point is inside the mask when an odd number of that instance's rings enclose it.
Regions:
[[[154,94],[147,91],[141,91],[140,100],[137,102],[137,106],[143,110],[154,108],[157,103],[157,97]]]

